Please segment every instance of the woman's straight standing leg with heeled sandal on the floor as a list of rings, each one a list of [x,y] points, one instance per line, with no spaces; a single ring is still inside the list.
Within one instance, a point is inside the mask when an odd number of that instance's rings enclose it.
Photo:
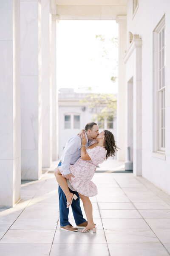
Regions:
[[[85,214],[86,214],[87,221],[88,221],[88,225],[85,228],[89,230],[89,229],[95,227],[95,224],[93,221],[93,207],[92,207],[89,197],[81,195],[81,194],[79,194],[79,196],[83,202],[83,207],[85,209]]]

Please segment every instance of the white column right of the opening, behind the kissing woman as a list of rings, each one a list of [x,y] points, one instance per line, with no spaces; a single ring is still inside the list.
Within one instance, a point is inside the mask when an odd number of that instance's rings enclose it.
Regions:
[[[118,99],[117,99],[117,134],[118,134],[118,160],[125,160],[125,63],[123,57],[127,49],[126,16],[117,16],[119,24],[119,73],[118,73]]]

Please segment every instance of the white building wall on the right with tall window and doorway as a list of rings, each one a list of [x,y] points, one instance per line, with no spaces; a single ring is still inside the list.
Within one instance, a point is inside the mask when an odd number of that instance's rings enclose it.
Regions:
[[[169,0],[127,1],[124,61],[125,143],[133,173],[170,194]]]

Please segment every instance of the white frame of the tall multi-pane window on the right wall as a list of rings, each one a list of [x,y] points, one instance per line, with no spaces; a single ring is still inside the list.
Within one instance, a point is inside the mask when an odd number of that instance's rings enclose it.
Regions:
[[[164,73],[165,73],[165,36],[164,36],[164,47],[159,47],[159,35],[160,32],[164,29],[165,35],[165,15],[160,20],[159,24],[153,31],[153,157],[157,157],[159,159],[165,160],[165,147],[162,147],[161,141],[161,130],[164,129],[164,143],[165,143],[165,125],[161,127],[161,106],[162,103],[164,105],[164,114],[165,117],[165,102],[164,99],[161,101],[161,92],[164,93],[165,96],[165,81],[161,80],[160,87],[160,62],[159,62],[159,52],[162,54],[162,50],[164,49]],[[162,40],[162,38],[161,38]],[[162,42],[162,41],[161,41]],[[162,55],[161,55],[161,69],[162,69]],[[160,72],[159,72],[160,71]],[[165,76],[164,76],[165,78]],[[164,97],[165,98],[165,97]],[[165,120],[163,121],[165,124]]]

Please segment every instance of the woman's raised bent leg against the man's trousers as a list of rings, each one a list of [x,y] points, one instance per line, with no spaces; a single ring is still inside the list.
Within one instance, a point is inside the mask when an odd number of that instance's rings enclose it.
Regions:
[[[68,189],[67,180],[66,178],[62,177],[61,172],[59,172],[59,168],[57,167],[54,170],[54,175],[56,177],[56,180],[62,189],[62,191],[65,193],[65,196],[67,198],[67,202],[71,202],[71,198],[73,197],[73,193],[71,193]]]

